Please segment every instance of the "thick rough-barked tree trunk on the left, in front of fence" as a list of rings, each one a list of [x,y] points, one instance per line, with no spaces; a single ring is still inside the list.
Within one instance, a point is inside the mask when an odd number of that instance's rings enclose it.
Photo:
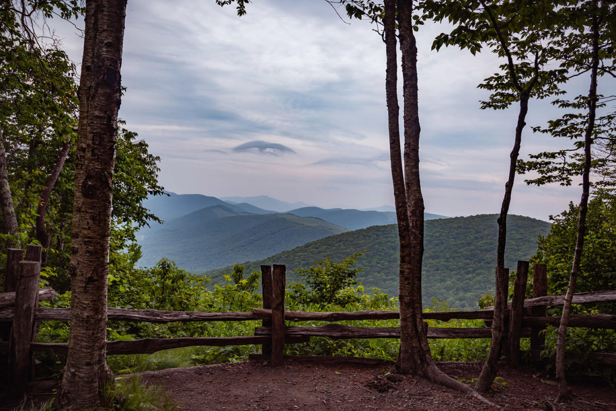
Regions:
[[[58,404],[100,405],[105,356],[111,182],[115,162],[126,0],[88,0],[71,247],[71,328]],[[77,240],[77,241],[76,241]]]

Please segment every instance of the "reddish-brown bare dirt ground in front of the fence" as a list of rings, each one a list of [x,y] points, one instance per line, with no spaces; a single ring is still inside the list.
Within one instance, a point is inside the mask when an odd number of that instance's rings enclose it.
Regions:
[[[471,380],[480,363],[444,362],[448,375]],[[383,365],[317,364],[286,360],[272,368],[260,361],[145,372],[142,380],[166,389],[181,411],[204,410],[490,410],[472,397],[412,376],[387,374]],[[556,386],[545,375],[503,368],[506,384],[487,395],[508,410],[544,410]],[[609,386],[573,385],[577,399],[559,410],[614,410]]]

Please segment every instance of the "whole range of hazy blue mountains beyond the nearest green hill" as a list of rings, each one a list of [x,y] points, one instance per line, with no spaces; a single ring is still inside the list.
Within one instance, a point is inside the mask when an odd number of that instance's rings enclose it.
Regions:
[[[232,198],[269,199],[267,204],[278,210],[283,204],[298,204],[264,196]],[[152,266],[164,257],[195,272],[261,259],[347,230],[395,222],[395,213],[391,212],[310,206],[278,213],[246,202],[229,203],[206,195],[172,192],[148,198],[144,206],[164,224],[153,224],[138,233],[143,253],[139,264]],[[426,218],[440,217],[426,214]]]

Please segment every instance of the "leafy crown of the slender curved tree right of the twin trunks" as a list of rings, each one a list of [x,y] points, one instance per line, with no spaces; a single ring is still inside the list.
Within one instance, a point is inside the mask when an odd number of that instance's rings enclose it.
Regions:
[[[543,99],[562,94],[559,83],[566,80],[567,70],[549,68],[554,55],[551,47],[545,46],[559,21],[551,6],[537,0],[423,2],[429,18],[455,25],[450,33],[437,36],[432,49],[458,46],[476,54],[486,46],[505,60],[500,72],[479,84],[479,88],[492,92],[488,100],[481,102],[481,108],[495,110],[529,97]]]

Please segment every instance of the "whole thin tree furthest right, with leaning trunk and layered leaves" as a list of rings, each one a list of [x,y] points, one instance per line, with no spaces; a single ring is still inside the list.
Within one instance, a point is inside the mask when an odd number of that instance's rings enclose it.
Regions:
[[[573,261],[569,275],[569,284],[562,309],[561,323],[558,330],[556,346],[556,379],[558,397],[556,402],[568,401],[572,396],[565,378],[565,338],[571,312],[571,301],[581,272],[583,248],[586,237],[586,216],[588,198],[590,197],[590,174],[594,166],[599,166],[599,174],[613,176],[614,165],[614,115],[598,116],[598,108],[605,104],[598,92],[598,78],[603,75],[616,77],[614,38],[616,38],[615,6],[612,2],[589,0],[585,2],[568,2],[558,10],[561,24],[559,31],[551,40],[551,47],[560,61],[561,67],[570,71],[570,76],[590,73],[588,94],[578,96],[575,100],[556,100],[554,104],[568,110],[580,110],[565,113],[562,118],[549,121],[548,128],[535,128],[537,131],[549,132],[553,136],[576,140],[583,136],[583,141],[574,141],[573,149],[559,152],[545,152],[532,156],[537,161],[525,163],[522,171],[538,171],[539,177],[530,179],[529,184],[546,184],[560,182],[569,185],[573,175],[582,176],[582,197],[580,198],[577,217],[577,233]],[[613,96],[608,97],[607,100]],[[602,140],[606,158],[593,161],[594,140]],[[579,153],[582,150],[583,153]],[[562,165],[559,159],[562,158]],[[567,161],[573,160],[573,161]],[[613,185],[613,181],[599,185]]]

